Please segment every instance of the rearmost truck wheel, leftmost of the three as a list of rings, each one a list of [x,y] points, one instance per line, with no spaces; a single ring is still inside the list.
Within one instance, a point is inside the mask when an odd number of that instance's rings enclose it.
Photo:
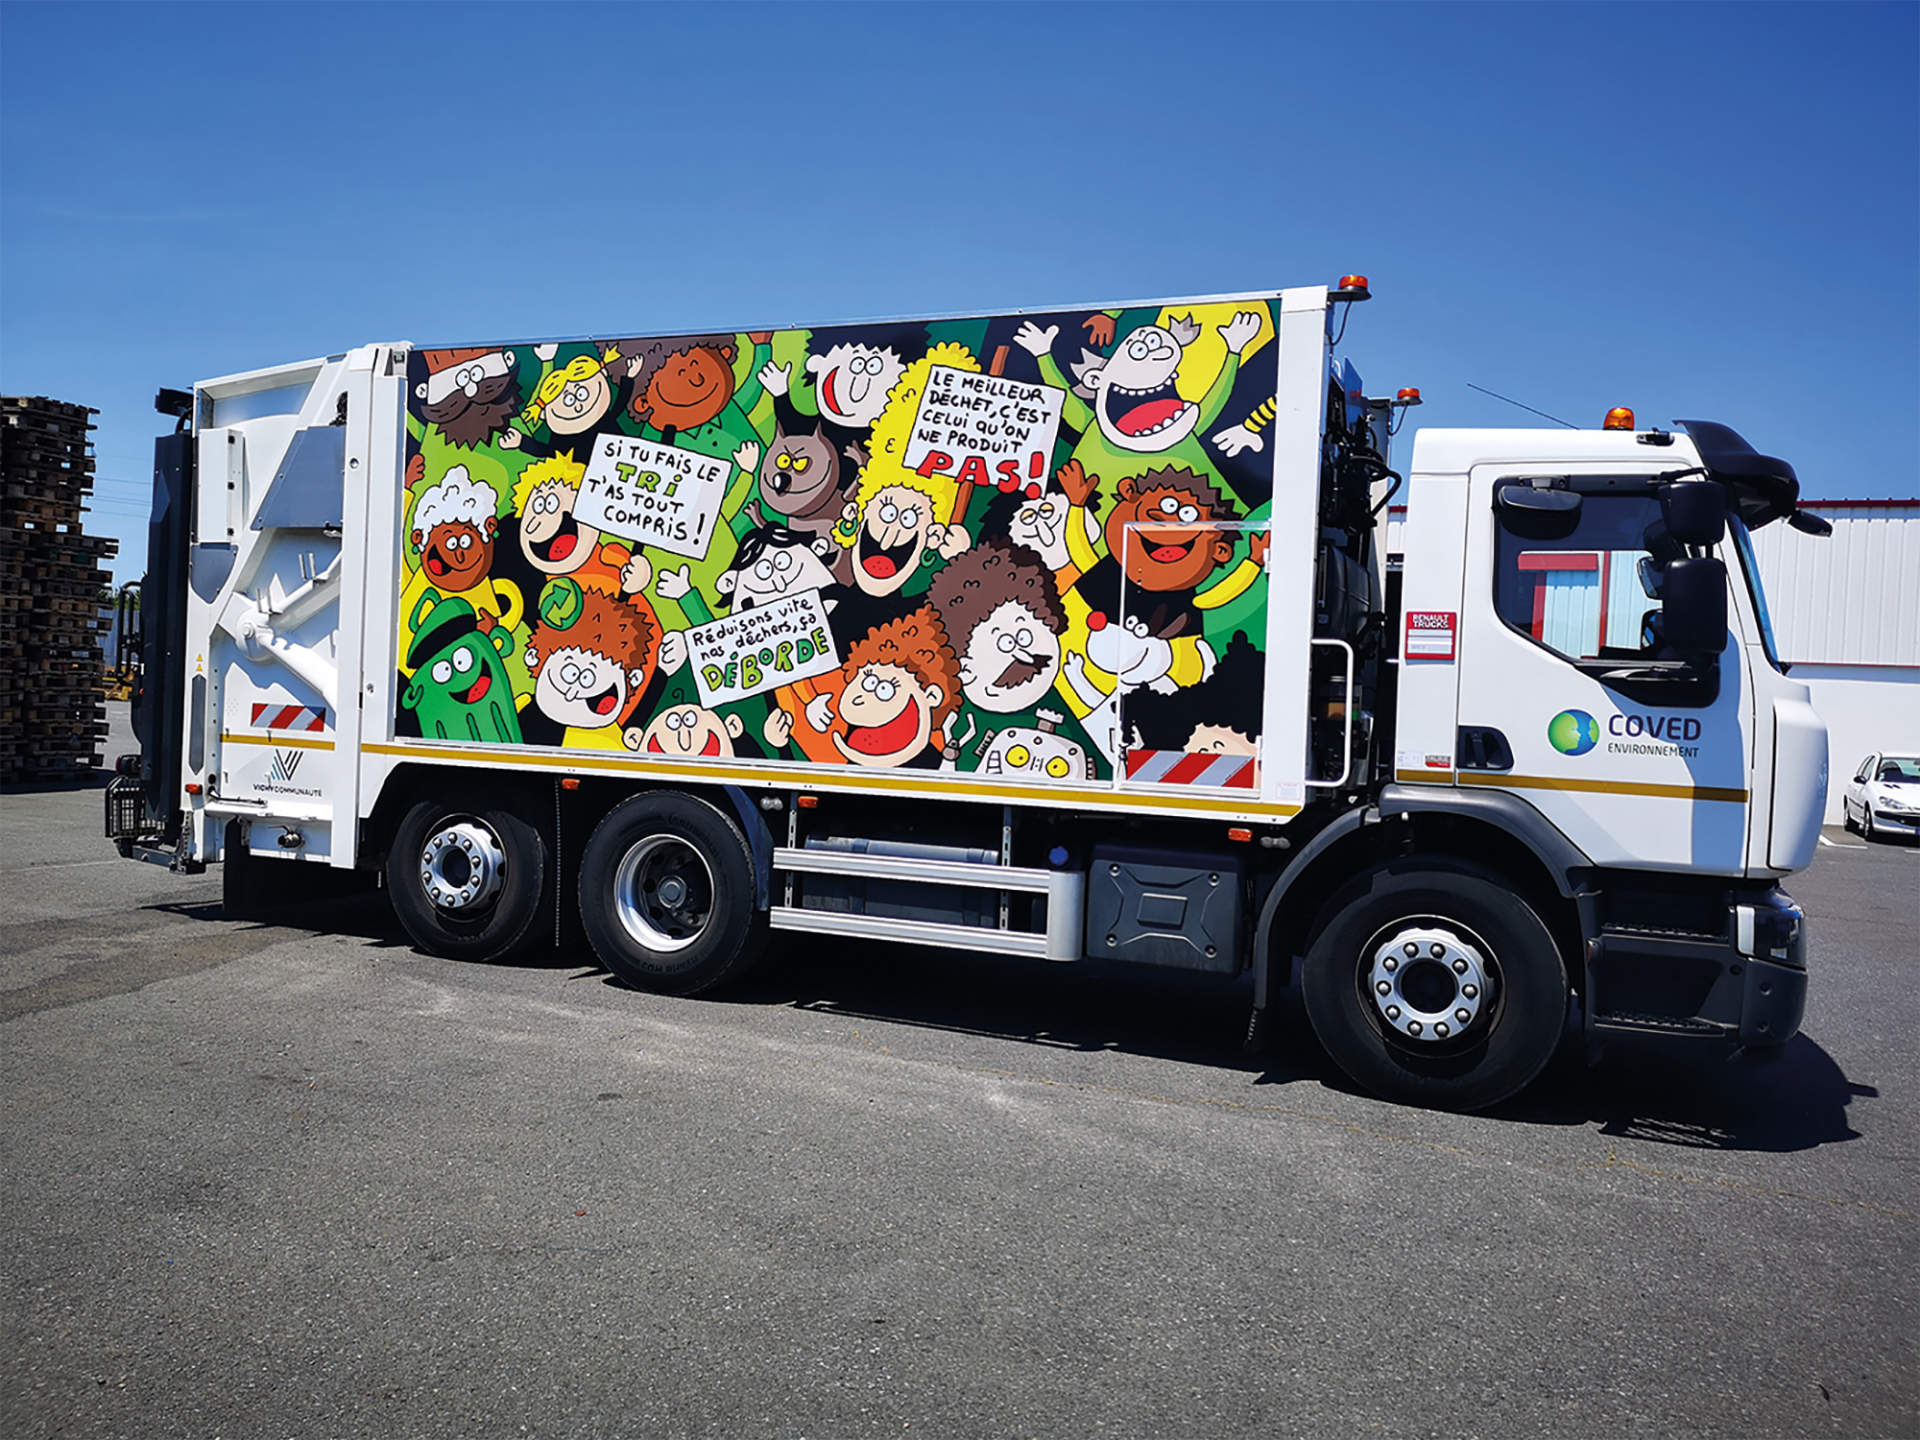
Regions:
[[[449,960],[503,960],[532,945],[547,889],[540,829],[505,804],[419,801],[386,854],[394,912],[413,943]]]

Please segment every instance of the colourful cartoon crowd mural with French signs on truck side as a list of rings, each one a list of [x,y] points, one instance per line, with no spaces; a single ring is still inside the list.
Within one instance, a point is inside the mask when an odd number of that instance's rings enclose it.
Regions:
[[[1261,298],[417,349],[396,728],[1252,783],[1273,323]]]

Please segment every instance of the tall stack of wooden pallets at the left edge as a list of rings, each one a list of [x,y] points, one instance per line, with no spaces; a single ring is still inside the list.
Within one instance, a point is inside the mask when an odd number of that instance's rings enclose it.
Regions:
[[[119,541],[88,536],[84,405],[0,396],[0,783],[100,764],[100,593]]]

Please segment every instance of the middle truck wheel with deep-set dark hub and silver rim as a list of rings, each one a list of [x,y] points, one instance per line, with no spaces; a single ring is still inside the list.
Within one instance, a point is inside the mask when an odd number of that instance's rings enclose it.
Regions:
[[[657,995],[739,979],[766,947],[753,849],[728,816],[676,791],[616,804],[580,854],[580,924],[601,962]]]

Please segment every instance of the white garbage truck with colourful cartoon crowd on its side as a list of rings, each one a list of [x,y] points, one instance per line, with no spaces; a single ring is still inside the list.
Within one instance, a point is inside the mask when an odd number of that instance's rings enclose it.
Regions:
[[[121,854],[693,995],[776,931],[1240,977],[1394,1100],[1797,1031],[1826,730],[1707,420],[1438,430],[1363,276],[165,390]],[[1388,513],[1404,543],[1388,553]]]

